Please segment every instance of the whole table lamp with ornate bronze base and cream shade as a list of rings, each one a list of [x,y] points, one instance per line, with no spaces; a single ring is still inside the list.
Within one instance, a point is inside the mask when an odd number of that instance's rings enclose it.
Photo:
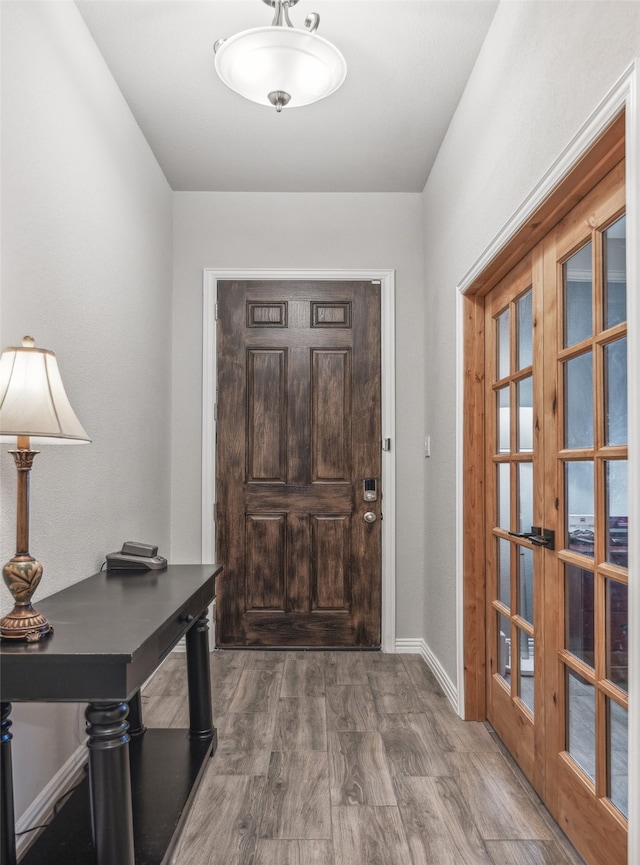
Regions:
[[[31,605],[42,577],[42,565],[29,553],[29,475],[40,453],[31,447],[90,439],[71,408],[55,354],[36,348],[30,336],[0,357],[0,441],[16,445],[9,453],[18,470],[16,554],[2,569],[15,606],[0,620],[0,637],[35,642],[53,628]]]

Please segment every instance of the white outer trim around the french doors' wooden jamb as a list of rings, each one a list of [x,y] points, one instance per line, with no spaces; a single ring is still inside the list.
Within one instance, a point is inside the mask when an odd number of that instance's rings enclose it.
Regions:
[[[640,862],[640,59],[636,59],[597,106],[547,174],[487,246],[458,284],[458,477],[457,477],[457,598],[458,598],[458,710],[464,716],[462,467],[463,467],[463,317],[462,295],[485,270],[518,229],[535,213],[552,190],[590,149],[612,120],[625,109],[625,168],[628,325],[628,435],[629,435],[629,865]],[[635,243],[633,242],[635,239]]]

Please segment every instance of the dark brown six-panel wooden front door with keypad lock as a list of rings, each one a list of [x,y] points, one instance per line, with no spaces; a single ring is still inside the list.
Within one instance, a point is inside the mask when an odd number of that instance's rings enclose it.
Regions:
[[[217,645],[379,647],[380,285],[219,282],[217,403]]]

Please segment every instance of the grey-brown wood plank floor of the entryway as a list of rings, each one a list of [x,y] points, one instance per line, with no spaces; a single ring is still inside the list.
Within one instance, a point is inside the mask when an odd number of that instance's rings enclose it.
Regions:
[[[188,726],[185,656],[143,694]],[[217,651],[218,750],[172,865],[584,865],[418,655]]]

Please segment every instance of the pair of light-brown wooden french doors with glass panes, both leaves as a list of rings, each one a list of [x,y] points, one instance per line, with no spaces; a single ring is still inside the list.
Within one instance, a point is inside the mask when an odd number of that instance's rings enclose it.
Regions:
[[[625,865],[624,163],[485,302],[487,717],[589,865]]]

